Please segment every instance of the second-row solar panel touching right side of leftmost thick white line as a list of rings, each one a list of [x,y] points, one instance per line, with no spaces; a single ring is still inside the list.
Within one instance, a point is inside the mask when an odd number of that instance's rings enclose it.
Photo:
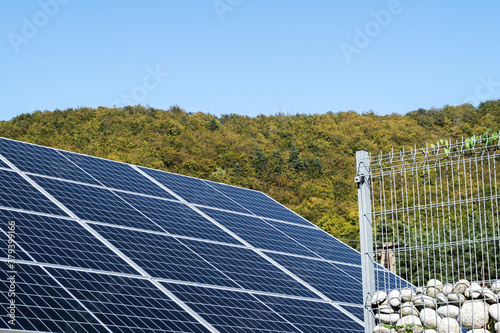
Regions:
[[[110,190],[43,177],[31,178],[81,219],[162,231]]]

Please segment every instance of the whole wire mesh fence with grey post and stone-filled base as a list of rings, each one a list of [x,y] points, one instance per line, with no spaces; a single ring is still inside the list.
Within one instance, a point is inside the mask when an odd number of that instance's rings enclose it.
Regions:
[[[500,332],[499,134],[358,152],[366,332],[410,317],[424,322],[428,309],[433,328],[456,325],[440,332]],[[417,319],[405,305],[415,306]],[[456,316],[439,312],[449,306]]]

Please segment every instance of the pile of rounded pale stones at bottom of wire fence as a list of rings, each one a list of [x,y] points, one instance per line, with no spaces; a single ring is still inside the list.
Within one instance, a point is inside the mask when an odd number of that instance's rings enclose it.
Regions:
[[[377,291],[371,306],[375,333],[396,333],[407,326],[416,333],[500,333],[500,280],[489,288],[467,280],[444,284],[429,280],[426,287]],[[408,332],[400,330],[400,332]]]

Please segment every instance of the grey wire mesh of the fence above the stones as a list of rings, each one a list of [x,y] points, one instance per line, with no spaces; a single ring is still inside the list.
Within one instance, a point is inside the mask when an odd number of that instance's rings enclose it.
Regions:
[[[375,260],[414,286],[500,277],[498,137],[371,158]]]

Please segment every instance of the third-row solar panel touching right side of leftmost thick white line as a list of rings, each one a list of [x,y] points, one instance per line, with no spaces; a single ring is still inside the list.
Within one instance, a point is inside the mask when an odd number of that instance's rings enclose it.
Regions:
[[[154,277],[237,287],[174,237],[100,225],[93,227]]]

